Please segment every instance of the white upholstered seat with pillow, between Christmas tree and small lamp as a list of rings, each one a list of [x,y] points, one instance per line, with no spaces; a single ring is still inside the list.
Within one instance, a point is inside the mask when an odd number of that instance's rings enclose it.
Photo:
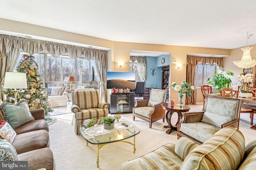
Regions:
[[[50,107],[67,106],[68,93],[65,87],[48,87]]]

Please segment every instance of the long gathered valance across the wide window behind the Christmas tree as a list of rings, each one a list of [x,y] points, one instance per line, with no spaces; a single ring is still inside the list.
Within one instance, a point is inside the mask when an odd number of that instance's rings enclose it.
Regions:
[[[9,51],[17,47],[30,55],[46,50],[53,57],[59,57],[62,54],[69,54],[73,59],[85,57],[91,60],[95,57],[102,61],[104,68],[107,68],[107,51],[104,50],[2,34],[0,34],[0,44],[0,58],[8,55]]]

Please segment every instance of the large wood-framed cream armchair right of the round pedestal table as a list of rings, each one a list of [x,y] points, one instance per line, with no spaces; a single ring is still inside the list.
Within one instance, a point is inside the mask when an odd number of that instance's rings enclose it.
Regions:
[[[238,128],[240,107],[240,99],[206,95],[203,111],[183,113],[178,139],[183,136],[202,144],[223,127]]]

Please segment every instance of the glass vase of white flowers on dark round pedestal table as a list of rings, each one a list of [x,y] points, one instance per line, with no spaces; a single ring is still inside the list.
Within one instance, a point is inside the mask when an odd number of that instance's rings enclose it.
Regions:
[[[176,84],[176,82],[172,82],[171,87],[173,88],[174,91],[177,91],[179,94],[178,106],[184,106],[184,94],[187,94],[188,97],[191,97],[191,90],[195,90],[194,86],[192,86],[188,82],[185,82],[185,80],[182,80],[181,85]]]

